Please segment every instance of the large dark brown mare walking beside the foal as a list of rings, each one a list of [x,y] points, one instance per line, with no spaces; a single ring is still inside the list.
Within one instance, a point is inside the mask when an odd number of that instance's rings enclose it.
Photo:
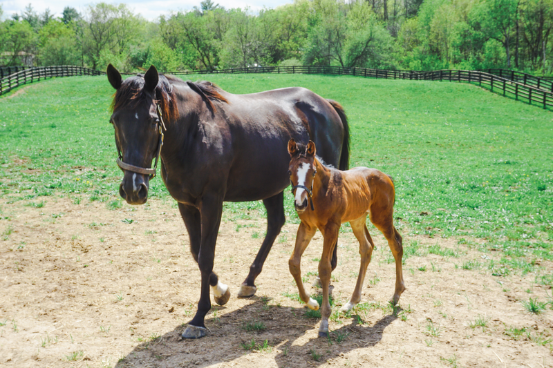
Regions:
[[[205,336],[209,287],[218,304],[230,296],[213,272],[223,202],[263,200],[267,209],[267,235],[238,293],[252,296],[254,281],[285,222],[288,140],[311,139],[326,162],[347,168],[346,115],[337,102],[305,88],[232,95],[208,82],[158,75],[153,66],[143,76],[123,81],[110,65],[107,77],[116,90],[111,123],[124,171],[120,195],[129,204],[146,202],[149,175],[155,175],[160,154],[162,180],[178,202],[202,275],[198,311],[182,336]]]

